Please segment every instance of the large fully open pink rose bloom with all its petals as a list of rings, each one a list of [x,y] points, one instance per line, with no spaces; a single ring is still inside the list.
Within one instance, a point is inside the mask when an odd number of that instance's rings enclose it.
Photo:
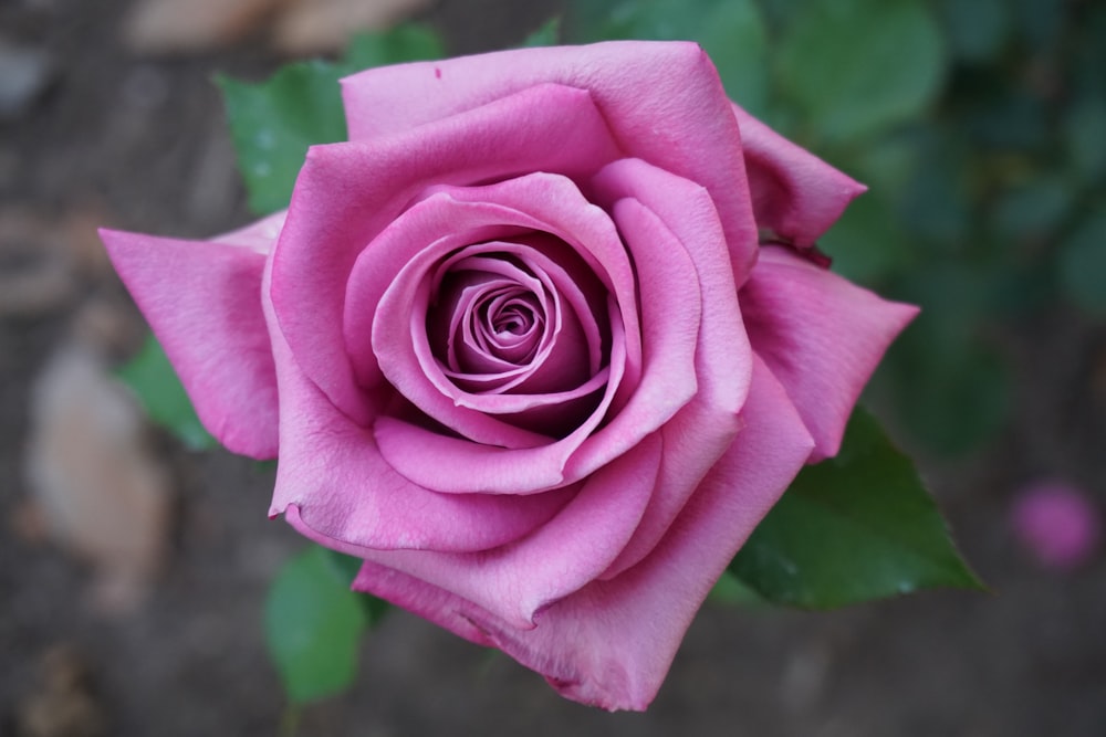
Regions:
[[[286,212],[104,231],[208,430],[353,586],[563,695],[654,698],[915,308],[824,267],[863,187],[733,105],[702,50],[388,66]]]

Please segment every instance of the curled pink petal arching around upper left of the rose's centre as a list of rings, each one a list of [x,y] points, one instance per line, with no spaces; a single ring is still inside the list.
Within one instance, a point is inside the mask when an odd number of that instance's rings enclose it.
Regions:
[[[273,305],[304,373],[368,422],[342,339],[345,283],[361,251],[420,190],[535,169],[581,176],[617,156],[588,93],[557,85],[417,130],[311,148],[273,254]]]

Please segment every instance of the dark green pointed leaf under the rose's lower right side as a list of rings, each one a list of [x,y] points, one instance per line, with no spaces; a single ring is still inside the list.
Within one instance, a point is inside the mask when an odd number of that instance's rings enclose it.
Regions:
[[[982,588],[914,464],[860,409],[841,453],[803,468],[730,570],[769,601],[806,609]]]

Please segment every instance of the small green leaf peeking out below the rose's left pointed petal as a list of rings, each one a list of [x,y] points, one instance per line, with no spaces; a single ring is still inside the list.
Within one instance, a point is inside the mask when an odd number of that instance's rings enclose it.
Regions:
[[[219,446],[219,441],[204,429],[177,372],[153,334],[146,337],[138,354],[118,370],[118,377],[134,391],[149,419],[187,448],[201,451]]]

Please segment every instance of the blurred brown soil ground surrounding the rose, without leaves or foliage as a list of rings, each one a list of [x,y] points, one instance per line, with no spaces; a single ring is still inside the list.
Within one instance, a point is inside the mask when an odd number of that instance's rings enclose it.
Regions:
[[[0,120],[0,224],[28,217],[23,241],[62,238],[87,257],[56,304],[0,316],[0,734],[276,735],[283,696],[260,612],[301,541],[265,519],[269,472],[160,439],[179,502],[167,564],[132,611],[96,607],[88,567],[36,534],[28,513],[31,387],[43,366],[84,329],[90,305],[114,310],[117,356],[140,335],[122,287],[86,253],[91,228],[200,238],[247,222],[211,77],[262,78],[281,61],[261,36],[171,59],[129,52],[128,4],[0,0],[0,35],[53,65],[34,104]],[[551,4],[440,2],[427,18],[463,53],[518,41]],[[24,256],[0,251],[0,274]],[[306,708],[298,734],[1106,735],[1106,559],[1045,571],[1006,524],[1014,489],[1042,474],[1097,489],[1102,505],[1106,333],[1056,307],[1003,339],[1016,359],[1014,421],[969,461],[924,464],[993,593],[824,614],[710,606],[645,715],[562,701],[509,659],[395,612],[365,642],[356,688]],[[88,716],[32,729],[27,715],[41,703]]]

